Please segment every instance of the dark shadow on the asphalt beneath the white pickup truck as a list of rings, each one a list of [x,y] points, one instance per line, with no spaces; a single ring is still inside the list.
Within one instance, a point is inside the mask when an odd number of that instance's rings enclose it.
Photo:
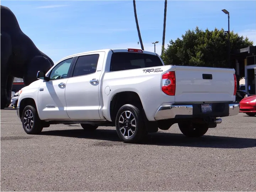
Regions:
[[[72,130],[49,130],[41,132],[41,135],[52,135],[60,137],[73,137],[96,139],[111,142],[111,145],[124,145],[121,142],[116,130],[96,129],[94,132],[86,132],[84,129]],[[150,133],[144,139],[142,145],[162,145],[162,146],[188,146],[201,148],[223,148],[223,149],[242,149],[256,146],[256,139],[219,137],[204,135],[200,138],[187,138],[183,134],[177,133]],[[129,144],[127,144],[129,145]]]

